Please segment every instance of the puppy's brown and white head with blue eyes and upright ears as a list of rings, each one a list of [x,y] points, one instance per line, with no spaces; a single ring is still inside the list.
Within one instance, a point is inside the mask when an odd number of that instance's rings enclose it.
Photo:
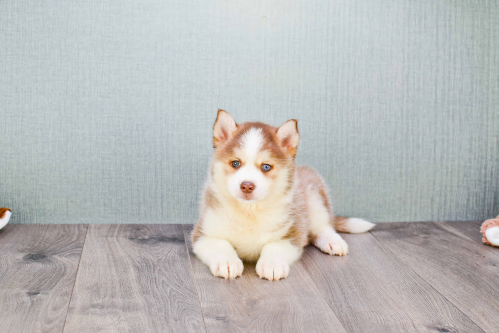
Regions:
[[[237,124],[218,110],[213,126],[213,182],[219,192],[252,204],[292,189],[298,146],[297,121],[276,128],[260,122]]]

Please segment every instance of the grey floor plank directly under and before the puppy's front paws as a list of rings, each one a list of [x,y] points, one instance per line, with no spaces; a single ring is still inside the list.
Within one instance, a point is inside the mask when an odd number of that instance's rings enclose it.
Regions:
[[[346,332],[301,263],[280,281],[260,279],[249,263],[237,279],[214,277],[190,250],[191,228],[184,225],[207,331]]]

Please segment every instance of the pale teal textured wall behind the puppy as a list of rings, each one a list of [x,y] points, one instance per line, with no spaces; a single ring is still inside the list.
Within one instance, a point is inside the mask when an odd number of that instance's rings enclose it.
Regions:
[[[338,214],[499,214],[499,2],[0,2],[12,223],[192,223],[217,108],[298,118]]]

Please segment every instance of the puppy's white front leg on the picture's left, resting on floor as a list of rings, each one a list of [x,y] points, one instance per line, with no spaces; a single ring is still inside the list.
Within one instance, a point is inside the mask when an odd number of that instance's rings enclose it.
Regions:
[[[192,250],[214,276],[236,278],[242,275],[242,261],[225,239],[202,236],[194,243]]]

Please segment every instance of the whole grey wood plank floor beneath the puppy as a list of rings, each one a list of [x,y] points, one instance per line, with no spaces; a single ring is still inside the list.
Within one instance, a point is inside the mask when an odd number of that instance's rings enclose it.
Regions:
[[[499,248],[481,222],[378,224],[307,247],[287,279],[213,277],[190,225],[9,224],[0,332],[499,332]]]

